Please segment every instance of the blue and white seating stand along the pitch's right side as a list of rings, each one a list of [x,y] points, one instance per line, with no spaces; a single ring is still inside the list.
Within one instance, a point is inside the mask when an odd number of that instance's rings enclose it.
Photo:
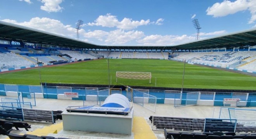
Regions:
[[[236,68],[253,72],[256,69],[256,51],[221,52],[174,52],[171,58],[176,61],[189,61],[221,68]]]

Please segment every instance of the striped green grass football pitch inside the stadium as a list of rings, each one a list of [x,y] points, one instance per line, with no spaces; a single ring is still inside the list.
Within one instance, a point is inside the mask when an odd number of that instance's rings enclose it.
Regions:
[[[107,59],[40,68],[43,83],[182,87],[184,63],[157,59]],[[108,72],[110,71],[110,72]],[[152,80],[118,79],[116,71],[151,72]],[[109,74],[110,73],[110,74]],[[0,83],[40,85],[39,70],[0,74]],[[186,64],[184,88],[256,90],[256,77]]]

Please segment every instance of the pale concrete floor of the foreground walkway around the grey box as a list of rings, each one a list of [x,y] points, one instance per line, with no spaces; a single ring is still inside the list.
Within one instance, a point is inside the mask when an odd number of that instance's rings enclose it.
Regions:
[[[0,98],[3,96],[0,96]],[[94,102],[86,102],[85,105],[91,105]],[[66,111],[68,106],[81,106],[83,101],[81,100],[57,100],[57,99],[43,99],[36,98],[35,109],[42,110],[62,110]],[[197,118],[211,118],[213,115],[213,106],[186,106],[175,108],[171,104],[157,104],[156,113],[144,108],[140,105],[133,104],[134,116],[144,117],[150,124],[150,115],[157,116],[170,116],[170,117],[197,117]],[[57,120],[62,122],[62,120]],[[28,122],[31,124],[29,131],[34,131],[38,128],[50,126],[51,124],[46,123],[35,123]],[[26,131],[21,129],[20,131],[13,129],[11,133],[14,134],[26,134]],[[164,139],[163,131],[154,131],[157,139]],[[121,135],[121,134],[107,134],[107,133],[95,133],[95,132],[84,132],[84,131],[60,131],[58,134],[49,134],[48,136],[54,137],[67,137],[72,139],[133,139],[133,135]],[[7,136],[0,135],[0,139],[5,139]]]

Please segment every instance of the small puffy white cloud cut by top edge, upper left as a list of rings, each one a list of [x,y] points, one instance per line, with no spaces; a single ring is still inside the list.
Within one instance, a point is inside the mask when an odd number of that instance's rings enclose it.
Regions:
[[[62,3],[62,0],[41,0],[41,2],[44,4],[40,8],[46,12],[61,12],[63,9],[59,5]]]

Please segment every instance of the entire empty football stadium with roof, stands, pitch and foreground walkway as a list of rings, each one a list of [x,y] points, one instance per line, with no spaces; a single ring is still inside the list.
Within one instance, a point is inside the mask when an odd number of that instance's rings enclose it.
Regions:
[[[0,56],[2,138],[256,139],[256,29],[102,46],[0,21]]]

